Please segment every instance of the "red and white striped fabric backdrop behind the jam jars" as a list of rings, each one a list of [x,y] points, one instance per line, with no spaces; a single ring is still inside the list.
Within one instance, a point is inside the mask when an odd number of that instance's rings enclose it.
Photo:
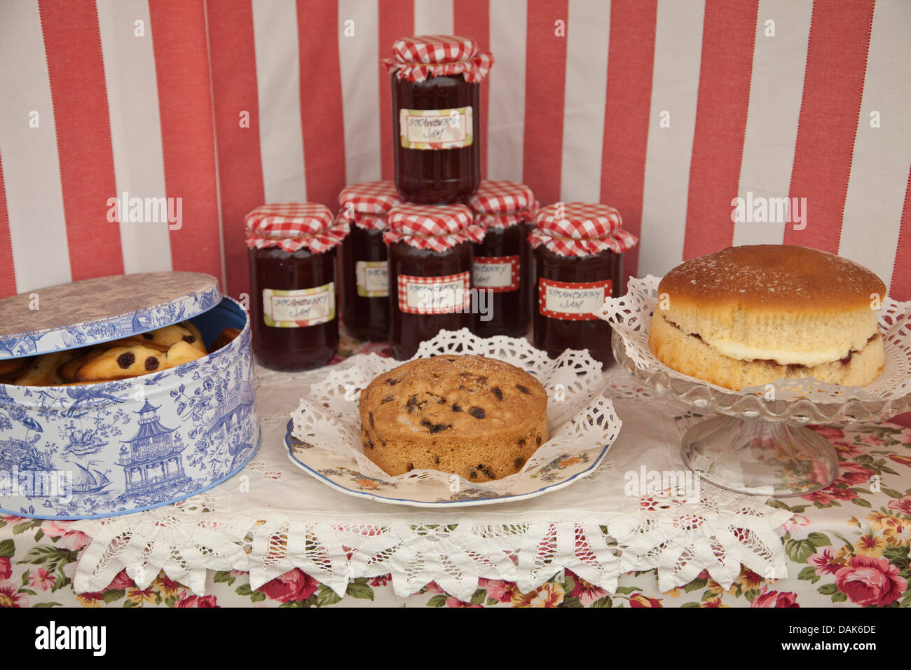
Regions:
[[[796,242],[911,299],[906,0],[5,2],[0,294],[167,269],[248,291],[244,213],[391,179],[380,57],[430,33],[496,57],[486,178],[617,207],[630,273]],[[123,191],[182,198],[183,227],[107,222]],[[805,229],[732,223],[748,191],[806,198]]]

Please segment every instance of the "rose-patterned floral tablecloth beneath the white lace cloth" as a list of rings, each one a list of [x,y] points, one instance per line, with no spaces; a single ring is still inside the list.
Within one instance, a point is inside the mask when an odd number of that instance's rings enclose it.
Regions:
[[[339,360],[378,345],[343,339]],[[675,420],[693,415],[681,408]],[[164,572],[140,588],[120,571],[97,592],[76,593],[73,581],[92,540],[74,521],[0,518],[0,606],[55,607],[799,607],[911,604],[911,428],[881,423],[850,428],[815,427],[839,455],[839,477],[803,499],[771,500],[792,514],[779,530],[787,578],[771,579],[742,568],[728,586],[703,571],[661,592],[655,570],[623,572],[616,588],[593,585],[560,569],[522,593],[516,582],[480,578],[462,599],[435,582],[407,598],[390,576],[355,577],[338,593],[299,568],[251,589],[249,572],[212,571],[204,589],[172,581]],[[606,534],[607,529],[602,529]],[[204,593],[204,594],[200,594]]]

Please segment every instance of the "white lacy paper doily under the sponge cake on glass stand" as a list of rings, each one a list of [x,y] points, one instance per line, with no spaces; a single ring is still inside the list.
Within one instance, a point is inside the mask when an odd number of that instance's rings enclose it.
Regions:
[[[775,415],[771,402],[754,402],[767,394],[769,388],[747,387],[732,391],[677,372],[651,353],[649,330],[658,302],[660,280],[660,277],[651,274],[630,278],[627,293],[619,298],[608,298],[598,313],[623,340],[625,354],[637,368],[630,371],[643,381],[654,381],[659,389],[676,383],[670,395],[691,401],[697,407],[731,414],[745,410],[755,412],[757,416],[765,412]],[[885,366],[883,374],[872,384],[843,387],[812,377],[779,379],[772,385],[775,402],[779,402],[781,407],[802,402],[808,414],[814,412],[812,406],[815,406],[822,415],[816,420],[850,422],[890,417],[906,411],[911,395],[911,302],[899,303],[886,298],[879,313],[879,325],[883,332]],[[684,385],[681,386],[680,382]],[[686,382],[695,384],[687,387]],[[842,408],[844,411],[841,411]]]

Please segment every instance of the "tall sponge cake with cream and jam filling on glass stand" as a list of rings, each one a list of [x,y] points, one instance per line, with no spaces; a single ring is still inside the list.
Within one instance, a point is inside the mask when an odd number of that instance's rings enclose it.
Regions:
[[[804,376],[863,387],[883,371],[885,291],[875,273],[831,253],[729,247],[664,276],[649,345],[665,365],[721,387]]]

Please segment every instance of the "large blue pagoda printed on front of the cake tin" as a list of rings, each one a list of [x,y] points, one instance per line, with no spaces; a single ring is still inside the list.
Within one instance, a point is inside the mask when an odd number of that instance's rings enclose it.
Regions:
[[[159,407],[146,400],[139,411],[139,429],[130,439],[121,440],[118,464],[127,478],[129,498],[154,496],[189,484],[183,471],[181,452],[186,448],[177,428],[165,428]]]

